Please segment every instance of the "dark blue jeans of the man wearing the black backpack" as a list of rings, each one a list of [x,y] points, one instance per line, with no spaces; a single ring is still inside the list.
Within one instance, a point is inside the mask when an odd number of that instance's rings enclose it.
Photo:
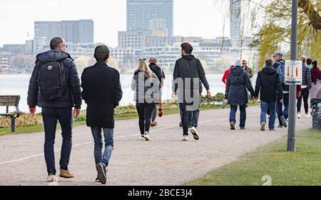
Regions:
[[[63,137],[61,146],[60,169],[68,169],[69,158],[72,147],[72,109],[42,109],[44,119],[45,143],[44,155],[48,174],[56,174],[54,144],[56,137],[57,121],[61,124],[61,136]]]

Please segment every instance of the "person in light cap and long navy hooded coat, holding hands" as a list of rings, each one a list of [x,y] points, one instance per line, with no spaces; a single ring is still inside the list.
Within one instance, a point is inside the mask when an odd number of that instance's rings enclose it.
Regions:
[[[247,90],[248,89],[248,90]],[[254,96],[254,89],[250,81],[248,73],[243,70],[241,61],[235,62],[235,67],[228,74],[227,88],[225,91],[225,99],[230,104],[230,129],[235,130],[236,111],[240,106],[240,129],[245,129],[246,121],[246,104],[248,104],[248,91]]]

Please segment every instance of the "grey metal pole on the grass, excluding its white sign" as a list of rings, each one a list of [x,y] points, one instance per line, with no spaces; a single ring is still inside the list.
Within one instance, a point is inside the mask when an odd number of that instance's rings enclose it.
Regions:
[[[297,0],[292,0],[291,60],[297,60]],[[289,129],[287,132],[287,151],[295,151],[295,120],[297,86],[290,85],[289,96]]]

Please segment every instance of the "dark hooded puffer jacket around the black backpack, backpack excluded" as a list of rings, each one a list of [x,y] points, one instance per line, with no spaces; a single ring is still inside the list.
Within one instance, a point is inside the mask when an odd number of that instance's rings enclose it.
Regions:
[[[39,71],[47,62],[58,61],[66,74],[66,90],[61,98],[45,101],[39,92]],[[50,50],[36,56],[36,66],[29,82],[27,103],[29,108],[72,108],[81,109],[81,84],[71,56],[63,51]]]

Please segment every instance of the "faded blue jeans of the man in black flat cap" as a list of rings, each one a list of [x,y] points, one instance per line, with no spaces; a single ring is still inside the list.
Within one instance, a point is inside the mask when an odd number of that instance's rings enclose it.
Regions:
[[[103,151],[103,138],[101,136],[101,129],[103,129],[103,136],[105,138],[104,151]],[[111,159],[111,154],[113,153],[113,129],[91,127],[91,133],[93,134],[93,141],[95,143],[95,146],[93,149],[93,155],[95,156],[95,163],[103,164],[103,167],[107,167],[109,159]]]

